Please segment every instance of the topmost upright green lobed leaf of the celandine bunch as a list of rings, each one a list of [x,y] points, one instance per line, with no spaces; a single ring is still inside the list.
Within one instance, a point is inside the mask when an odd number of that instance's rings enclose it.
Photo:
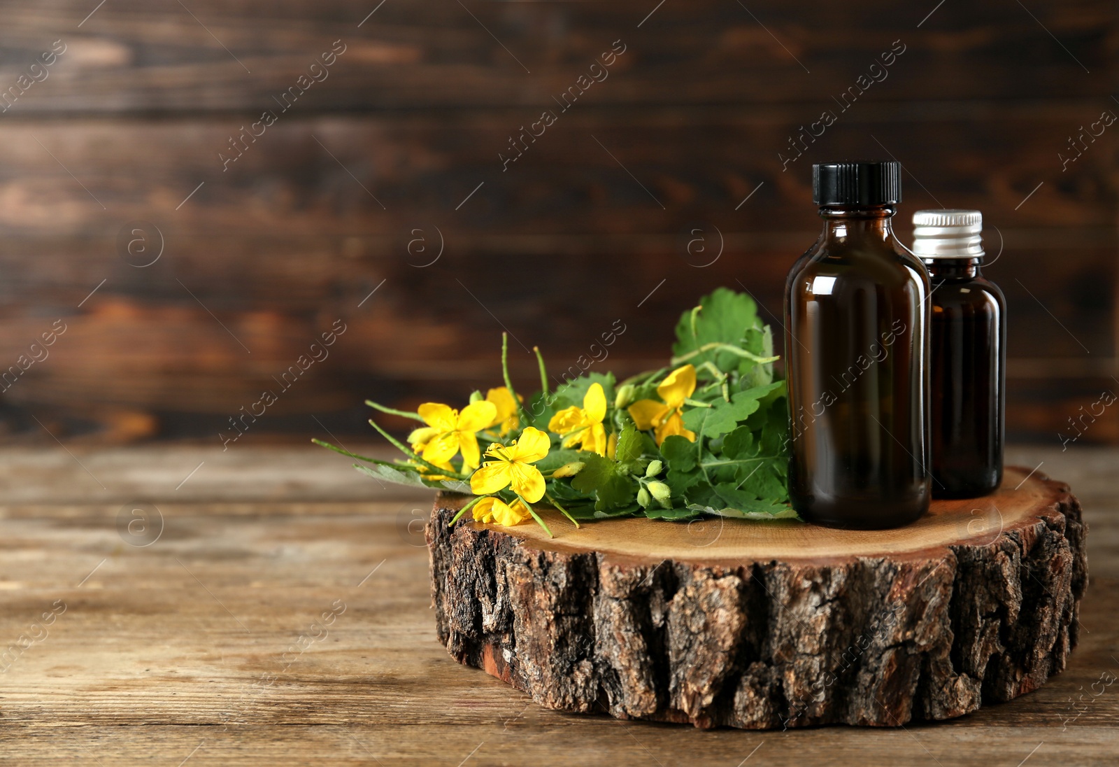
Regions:
[[[676,344],[673,346],[675,357],[695,352],[705,344],[742,346],[746,330],[761,328],[754,300],[746,293],[739,293],[727,288],[718,288],[709,296],[699,299],[699,311],[695,316],[694,327],[692,318],[693,312],[686,311],[676,325]],[[688,362],[697,368],[705,362],[712,362],[718,370],[730,373],[739,367],[742,358],[725,350],[713,349],[696,355]]]

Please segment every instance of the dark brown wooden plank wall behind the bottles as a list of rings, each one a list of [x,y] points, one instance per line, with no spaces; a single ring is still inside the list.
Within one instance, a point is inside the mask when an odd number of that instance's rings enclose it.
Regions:
[[[366,433],[365,397],[461,404],[498,382],[502,328],[526,387],[527,348],[558,373],[615,321],[596,368],[657,365],[717,286],[780,312],[818,228],[810,165],[856,156],[904,165],[905,240],[915,209],[984,212],[1013,434],[1055,440],[1119,390],[1119,124],[1059,159],[1119,114],[1113,2],[378,1],[0,2],[0,86],[29,85],[0,114],[0,368],[66,328],[0,395],[6,440],[217,443],[336,320],[330,356],[244,440]],[[19,81],[56,40],[46,79]],[[243,127],[264,132],[224,169]],[[151,226],[162,254],[140,268],[120,235],[153,245]],[[711,250],[688,253],[693,228]]]

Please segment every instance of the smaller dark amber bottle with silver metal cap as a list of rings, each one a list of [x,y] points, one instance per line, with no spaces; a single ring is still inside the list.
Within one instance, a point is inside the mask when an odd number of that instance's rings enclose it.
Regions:
[[[987,495],[1003,481],[1006,299],[979,272],[978,211],[918,211],[913,226],[932,278],[932,494]]]

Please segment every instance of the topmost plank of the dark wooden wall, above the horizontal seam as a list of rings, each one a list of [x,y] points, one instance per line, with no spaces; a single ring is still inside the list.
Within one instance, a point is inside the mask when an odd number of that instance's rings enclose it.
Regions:
[[[1036,99],[1097,93],[1083,71],[1110,64],[1116,21],[1115,8],[1100,0],[1035,2],[1044,28],[1021,8],[998,6],[966,19],[933,16],[921,29],[927,10],[881,0],[856,9],[819,2],[800,12],[703,0],[651,16],[640,0],[444,0],[386,4],[369,17],[375,6],[197,0],[188,13],[178,3],[131,0],[107,3],[78,28],[87,3],[40,10],[6,2],[4,68],[15,78],[53,40],[72,46],[19,102],[31,113],[253,111],[271,107],[275,93],[341,39],[347,53],[308,96],[316,107],[461,109],[548,103],[622,39],[629,48],[613,75],[621,81],[613,103],[818,102],[853,85],[902,40],[905,53],[875,86],[876,99],[896,100],[904,79],[916,77],[933,100]],[[1024,48],[1033,55],[1022,56]]]

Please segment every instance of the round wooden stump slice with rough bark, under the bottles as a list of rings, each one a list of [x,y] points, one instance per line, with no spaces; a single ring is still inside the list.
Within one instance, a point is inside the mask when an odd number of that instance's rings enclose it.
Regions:
[[[1035,690],[1076,644],[1087,529],[1008,468],[901,530],[627,518],[426,534],[439,638],[553,709],[697,727],[895,727]],[[469,516],[469,515],[468,515]]]

